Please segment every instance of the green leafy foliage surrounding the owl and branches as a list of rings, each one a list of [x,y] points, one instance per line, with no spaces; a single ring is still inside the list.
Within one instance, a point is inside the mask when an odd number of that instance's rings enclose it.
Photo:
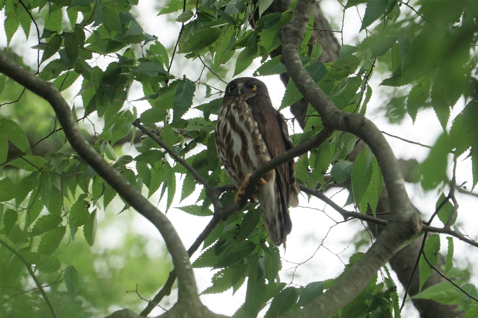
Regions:
[[[372,23],[380,20],[380,25],[376,23],[369,36],[356,46],[343,45],[337,61],[324,64],[318,60],[322,52],[320,44],[313,45],[309,54],[308,45],[313,41],[313,28],[309,27],[300,50],[302,63],[340,110],[362,115],[366,113],[372,94],[369,79],[374,67],[387,69],[389,77],[381,85],[396,88],[401,95],[387,105],[390,119],[399,121],[406,112],[415,121],[419,111],[433,108],[444,129],[421,164],[423,189],[442,189],[450,182],[448,154],[452,154],[454,162],[462,154],[471,159],[473,173],[469,181],[472,187],[476,186],[478,4],[473,0],[422,0],[417,3],[419,9],[416,13],[404,10],[407,9],[405,3],[398,0],[348,0],[344,10],[353,10],[349,8],[365,2],[361,29],[368,30]],[[119,150],[113,146],[127,136],[132,139],[132,122],[139,118],[147,127],[160,127],[159,137],[163,142],[185,158],[210,186],[229,184],[214,143],[214,115],[220,106],[220,99],[214,95],[221,91],[201,78],[183,77],[170,69],[174,55],[156,36],[143,31],[131,12],[137,3],[137,0],[24,0],[22,3],[0,1],[0,6],[6,16],[4,26],[9,44],[19,29],[29,37],[32,20],[28,13],[33,14],[41,30],[39,43],[33,47],[42,55],[38,76],[52,82],[60,91],[67,91],[76,81],[81,81],[81,89],[76,95],[82,98],[83,113],[80,115],[81,109],[74,107],[77,118],[95,114],[103,124],[101,132],[94,132],[92,145],[138,190],[145,188],[148,197],[157,192],[163,197],[167,192],[167,211],[176,192],[181,192],[183,200],[200,186],[196,177],[183,165],[170,160],[163,148],[150,137],[136,144],[140,154],[135,157],[129,154],[118,157]],[[271,3],[269,0],[259,0],[256,4],[246,0],[170,0],[161,7],[159,14],[173,15],[178,23],[182,23],[175,54],[190,60],[201,57],[211,72],[223,74],[230,65],[225,64],[231,60],[234,76],[244,72],[255,58],[261,57],[262,65],[254,76],[278,75],[286,71],[285,66],[279,56],[269,60],[268,57],[281,44],[278,32],[290,21],[295,2],[285,12],[264,14]],[[248,27],[252,20],[254,29]],[[312,17],[310,22],[313,23]],[[101,68],[93,62],[98,56],[109,56],[112,62]],[[150,105],[141,113],[128,103],[133,83],[141,86],[144,93],[141,100],[147,100]],[[18,98],[12,96],[12,91],[19,91],[18,85],[3,75],[0,76],[0,88],[3,90],[2,100]],[[206,94],[203,94],[203,88]],[[43,103],[28,111],[34,111],[35,115],[51,122],[54,115],[44,107],[44,102],[28,92],[25,95],[18,103],[30,105],[31,99]],[[280,108],[289,107],[302,97],[290,80]],[[194,107],[202,112],[202,116],[191,118],[188,111],[194,105],[194,98],[206,100]],[[451,110],[460,98],[466,100],[467,106],[450,120]],[[65,143],[62,132],[51,137],[56,145],[54,151],[36,154],[30,141],[32,133],[38,140],[48,134],[50,127],[43,126],[43,123],[37,126],[42,121],[32,122],[30,112],[15,111],[12,114],[2,113],[0,120],[0,238],[13,246],[27,264],[0,247],[0,292],[1,300],[5,302],[0,310],[5,315],[22,316],[46,310],[37,299],[34,302],[41,304],[38,308],[25,306],[28,298],[11,297],[17,291],[5,288],[26,290],[33,286],[25,265],[34,265],[35,273],[45,285],[54,283],[48,294],[55,306],[71,306],[79,316],[105,313],[112,304],[120,303],[122,307],[133,304],[118,294],[119,287],[113,286],[108,277],[102,277],[92,268],[92,263],[122,255],[120,248],[94,257],[84,244],[93,246],[98,235],[97,227],[98,231],[104,230],[97,224],[98,214],[110,205],[116,192]],[[312,107],[308,108],[303,132],[292,135],[294,143],[309,139],[323,128],[318,115]],[[334,132],[320,148],[298,159],[296,178],[311,188],[326,188],[334,182],[350,180],[347,204],[362,213],[369,210],[375,214],[382,190],[380,169],[384,167],[379,166],[369,147],[360,152],[353,163],[348,161],[357,142],[358,137],[353,134]],[[13,150],[15,154],[12,154]],[[324,177],[327,172],[330,178]],[[177,174],[182,175],[182,184],[177,184]],[[213,214],[211,199],[205,191],[195,199],[198,205],[181,209],[195,216]],[[439,202],[444,199],[445,195]],[[231,193],[221,197],[223,206],[232,202]],[[448,202],[438,213],[444,224],[452,215],[453,206]],[[125,203],[119,210],[128,208]],[[250,204],[244,212],[221,221],[204,241],[204,251],[193,266],[218,269],[212,277],[212,285],[203,294],[221,293],[230,288],[236,292],[241,285],[247,285],[245,302],[236,315],[257,316],[270,303],[265,317],[277,317],[303,307],[334,285],[336,280],[311,282],[306,286],[282,282],[278,275],[282,268],[280,252],[268,243],[259,210],[260,207]],[[448,225],[453,225],[455,219]],[[121,246],[124,255],[133,249],[144,249],[144,241],[133,243],[129,239]],[[438,235],[431,236],[425,243],[424,255],[432,265],[437,263],[439,248]],[[455,270],[452,268],[453,250],[453,241],[449,240],[447,273]],[[77,260],[77,255],[82,255],[82,259]],[[360,257],[360,253],[354,254],[345,270]],[[108,268],[105,271],[109,275],[122,275],[130,281],[138,279],[136,282],[140,282],[131,268],[143,261],[149,262],[151,267],[154,262],[144,255],[131,257],[124,260],[130,268]],[[432,268],[424,256],[419,266],[421,287]],[[400,317],[395,283],[388,269],[383,271],[386,273],[383,279],[376,277],[370,281],[337,314],[344,318]],[[157,281],[149,281],[153,276],[150,272],[148,280],[141,281],[141,288],[147,288],[149,293],[159,286]],[[85,287],[98,281],[100,284],[94,287]],[[465,279],[458,283],[476,296],[476,288],[467,284]],[[130,288],[124,286],[121,288]],[[466,310],[471,308],[469,299],[457,293],[455,286],[445,287],[440,290],[436,286],[430,287],[415,297],[459,304]],[[106,291],[111,294],[104,296]],[[102,298],[98,298],[99,294],[103,295]],[[68,303],[60,306],[63,301]],[[18,308],[25,311],[15,311]],[[73,316],[68,313],[68,317]]]

